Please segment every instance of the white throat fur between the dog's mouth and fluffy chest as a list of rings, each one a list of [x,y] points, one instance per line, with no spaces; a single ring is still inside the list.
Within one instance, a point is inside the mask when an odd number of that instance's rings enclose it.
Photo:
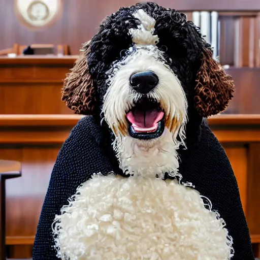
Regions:
[[[178,173],[179,145],[180,142],[175,143],[172,134],[166,128],[159,139],[118,137],[113,148],[123,172],[164,179],[165,173],[173,177]]]

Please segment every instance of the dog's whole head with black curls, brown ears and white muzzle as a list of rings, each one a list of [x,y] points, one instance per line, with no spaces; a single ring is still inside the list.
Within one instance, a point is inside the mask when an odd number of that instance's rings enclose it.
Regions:
[[[76,113],[103,112],[116,137],[185,138],[187,108],[207,117],[228,105],[232,78],[186,16],[155,3],[121,8],[83,45],[62,100]]]

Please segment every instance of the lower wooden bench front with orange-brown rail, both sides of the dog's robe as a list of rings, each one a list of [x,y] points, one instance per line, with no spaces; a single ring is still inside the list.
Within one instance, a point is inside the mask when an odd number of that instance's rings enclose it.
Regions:
[[[23,171],[22,178],[7,183],[10,257],[31,257],[53,164],[80,118],[79,115],[0,115],[0,157],[21,161]],[[208,121],[231,161],[256,248],[260,244],[260,115],[221,115]],[[259,254],[257,251],[255,256]]]

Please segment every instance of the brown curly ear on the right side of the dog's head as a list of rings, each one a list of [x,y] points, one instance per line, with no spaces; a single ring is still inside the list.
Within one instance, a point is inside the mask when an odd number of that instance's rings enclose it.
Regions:
[[[194,105],[203,117],[225,110],[233,98],[235,85],[232,77],[213,59],[212,52],[203,51],[203,61],[197,74]]]

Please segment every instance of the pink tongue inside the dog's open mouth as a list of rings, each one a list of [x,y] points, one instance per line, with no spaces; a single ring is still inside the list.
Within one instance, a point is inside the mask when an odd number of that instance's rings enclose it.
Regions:
[[[158,128],[158,122],[163,119],[164,112],[156,109],[136,109],[127,113],[126,117],[136,132],[154,132]]]

